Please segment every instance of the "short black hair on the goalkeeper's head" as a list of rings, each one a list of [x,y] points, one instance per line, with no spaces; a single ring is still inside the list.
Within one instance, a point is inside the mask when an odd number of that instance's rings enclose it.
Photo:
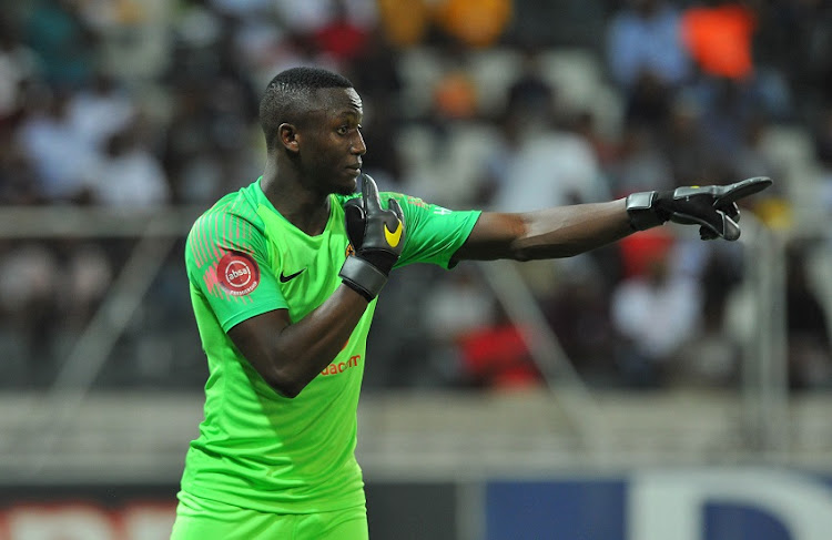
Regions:
[[[323,68],[300,67],[277,73],[260,100],[260,125],[266,147],[274,147],[277,128],[284,122],[298,123],[311,105],[315,90],[353,88],[343,75]]]

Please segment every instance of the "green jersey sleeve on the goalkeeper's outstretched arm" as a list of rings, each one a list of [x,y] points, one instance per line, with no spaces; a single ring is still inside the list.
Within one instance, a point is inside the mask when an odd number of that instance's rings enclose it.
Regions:
[[[450,268],[450,258],[468,240],[481,211],[451,211],[399,193],[385,193],[382,198],[390,196],[405,214],[405,247],[396,266],[430,263]]]

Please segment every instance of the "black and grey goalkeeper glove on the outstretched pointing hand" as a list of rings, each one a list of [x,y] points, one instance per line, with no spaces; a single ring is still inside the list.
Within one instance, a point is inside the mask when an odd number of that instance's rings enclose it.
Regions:
[[[630,216],[630,226],[636,231],[645,231],[672,221],[686,225],[700,225],[699,235],[702,240],[720,237],[735,241],[740,237],[740,208],[737,201],[771,184],[771,179],[755,176],[730,185],[632,193],[627,196],[627,213]]]

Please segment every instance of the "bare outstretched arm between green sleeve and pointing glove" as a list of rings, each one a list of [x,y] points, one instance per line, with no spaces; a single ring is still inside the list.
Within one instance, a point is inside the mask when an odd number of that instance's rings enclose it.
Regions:
[[[484,212],[454,261],[571,257],[632,232],[623,198],[517,214]]]

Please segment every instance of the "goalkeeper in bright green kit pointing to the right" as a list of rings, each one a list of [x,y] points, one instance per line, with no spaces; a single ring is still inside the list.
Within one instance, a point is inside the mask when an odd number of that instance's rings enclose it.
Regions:
[[[367,538],[356,408],[376,297],[396,267],[568,257],[668,221],[735,241],[735,201],[771,183],[522,214],[451,212],[379,194],[362,175],[362,114],[336,73],[277,74],[260,105],[263,175],[221,198],[187,237],[209,378],[174,540]]]

